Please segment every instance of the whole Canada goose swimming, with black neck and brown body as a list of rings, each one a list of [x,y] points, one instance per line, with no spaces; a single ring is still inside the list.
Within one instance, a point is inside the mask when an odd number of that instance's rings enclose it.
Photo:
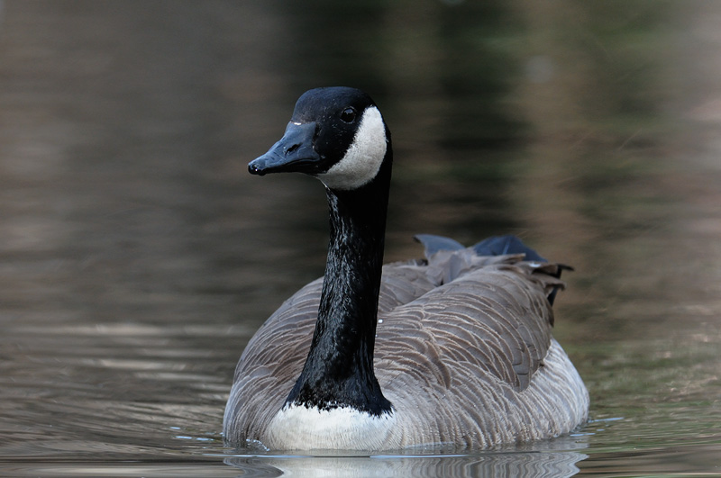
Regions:
[[[551,337],[561,266],[516,238],[475,248],[421,236],[426,259],[382,266],[390,132],[369,95],[302,95],[251,174],[325,185],[323,278],[260,327],[224,416],[234,446],[381,450],[493,446],[569,432],[589,393]],[[528,260],[525,260],[528,259]]]

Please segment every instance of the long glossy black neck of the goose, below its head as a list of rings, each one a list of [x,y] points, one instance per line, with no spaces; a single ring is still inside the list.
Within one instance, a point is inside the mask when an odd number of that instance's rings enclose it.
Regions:
[[[389,156],[389,155],[388,155]],[[368,185],[326,189],[331,240],[318,320],[303,372],[287,403],[330,410],[390,410],[373,373],[391,161]]]

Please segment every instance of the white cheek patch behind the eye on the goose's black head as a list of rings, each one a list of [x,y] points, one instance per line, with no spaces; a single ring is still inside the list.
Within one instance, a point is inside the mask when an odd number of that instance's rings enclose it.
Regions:
[[[386,157],[386,125],[379,109],[367,108],[345,156],[318,179],[331,189],[351,190],[370,183]]]

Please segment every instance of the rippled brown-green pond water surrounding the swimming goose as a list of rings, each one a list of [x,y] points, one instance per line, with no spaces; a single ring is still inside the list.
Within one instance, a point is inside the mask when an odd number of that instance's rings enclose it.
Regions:
[[[721,474],[721,6],[5,1],[0,473]],[[247,175],[297,95],[370,91],[415,232],[576,267],[570,437],[304,457],[220,435],[242,347],[323,273],[324,194]]]

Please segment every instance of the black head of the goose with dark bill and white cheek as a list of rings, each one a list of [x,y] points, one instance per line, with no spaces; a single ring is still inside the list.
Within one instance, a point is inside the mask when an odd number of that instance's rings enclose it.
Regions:
[[[283,138],[251,161],[253,175],[298,172],[335,191],[370,184],[391,162],[390,132],[369,95],[348,87],[307,91]]]

